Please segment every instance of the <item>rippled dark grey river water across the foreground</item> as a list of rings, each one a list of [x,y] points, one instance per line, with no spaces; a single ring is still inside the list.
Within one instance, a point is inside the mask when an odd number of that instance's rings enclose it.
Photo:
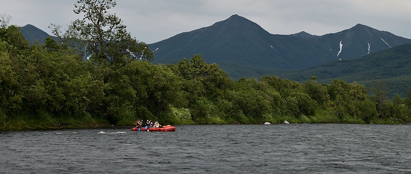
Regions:
[[[0,132],[0,173],[411,173],[410,125]]]

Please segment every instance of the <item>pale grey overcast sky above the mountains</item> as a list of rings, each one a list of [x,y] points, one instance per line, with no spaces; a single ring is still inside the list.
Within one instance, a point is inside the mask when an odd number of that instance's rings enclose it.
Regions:
[[[0,0],[0,14],[10,25],[31,24],[49,34],[83,15],[73,12],[77,0]],[[152,44],[182,32],[208,27],[233,14],[245,17],[271,34],[301,31],[337,33],[356,24],[411,38],[409,0],[117,0],[110,9],[137,40]]]

